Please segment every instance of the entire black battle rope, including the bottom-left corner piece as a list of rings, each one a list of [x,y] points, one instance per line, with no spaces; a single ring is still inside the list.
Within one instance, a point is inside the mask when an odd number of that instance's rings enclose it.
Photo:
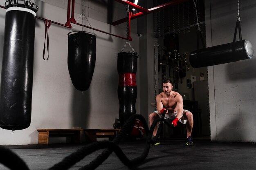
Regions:
[[[95,152],[97,150],[104,149],[104,148],[105,150],[103,150],[103,152],[96,159],[91,161],[88,165],[83,166],[79,170],[94,170],[99,165],[101,165],[101,163],[103,163],[103,161],[105,161],[112,152],[115,152],[117,157],[121,160],[122,163],[124,163],[124,165],[128,167],[138,166],[148,156],[150,144],[151,142],[155,142],[155,140],[158,138],[160,131],[162,130],[163,122],[166,122],[168,126],[171,126],[171,123],[166,121],[166,119],[164,119],[164,115],[165,115],[165,111],[162,114],[162,117],[155,119],[155,121],[153,122],[149,130],[147,128],[148,125],[146,123],[146,120],[142,115],[137,115],[137,114],[132,115],[125,122],[124,126],[121,128],[120,132],[117,134],[117,137],[115,137],[113,141],[97,141],[97,142],[88,144],[83,148],[76,150],[69,156],[65,157],[61,162],[49,168],[49,170],[68,170],[75,163],[81,161],[87,155],[90,155],[92,152]],[[119,148],[117,144],[119,144],[121,139],[123,139],[127,134],[129,134],[132,131],[132,128],[134,126],[134,122],[136,119],[139,119],[145,128],[146,135],[147,135],[146,146],[144,148],[144,151],[139,157],[136,157],[130,160],[126,157],[124,152],[121,150],[121,148]],[[153,134],[153,130],[157,122],[159,121],[160,121],[160,124],[157,130],[157,135],[154,137],[152,141],[151,137]],[[12,152],[10,149],[0,147],[0,152],[1,152],[1,155],[4,155],[4,157],[3,156],[0,157],[0,163],[7,166],[11,170],[20,170],[20,169],[29,170],[26,163],[20,157],[18,157],[14,152]],[[13,161],[15,161],[16,163],[13,164]]]

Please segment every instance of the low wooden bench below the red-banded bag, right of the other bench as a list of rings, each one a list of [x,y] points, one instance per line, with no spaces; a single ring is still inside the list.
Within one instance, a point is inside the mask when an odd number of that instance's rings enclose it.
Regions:
[[[85,132],[85,140],[89,142],[97,141],[97,138],[108,137],[112,141],[120,129],[83,129]]]

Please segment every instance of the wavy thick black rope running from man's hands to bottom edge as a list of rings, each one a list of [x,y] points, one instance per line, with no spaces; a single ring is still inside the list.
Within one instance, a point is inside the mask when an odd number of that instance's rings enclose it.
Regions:
[[[103,161],[105,161],[108,156],[114,151],[117,155],[117,157],[119,157],[119,159],[121,160],[122,163],[124,163],[124,165],[128,166],[128,167],[134,167],[137,166],[139,163],[141,163],[142,161],[144,161],[144,159],[146,159],[148,152],[149,152],[149,148],[150,148],[150,144],[151,144],[151,136],[153,134],[153,130],[157,124],[158,121],[164,122],[165,119],[163,118],[165,115],[162,115],[162,117],[155,119],[155,121],[153,122],[153,124],[151,125],[150,129],[148,130],[148,126],[146,123],[146,120],[143,116],[141,115],[132,115],[124,124],[124,126],[122,126],[120,132],[118,133],[117,137],[115,137],[115,139],[113,141],[98,141],[98,142],[94,142],[92,144],[88,144],[87,146],[84,146],[83,148],[77,150],[76,152],[72,153],[71,155],[65,157],[63,159],[63,161],[55,164],[52,168],[50,168],[49,170],[68,170],[70,167],[72,167],[75,163],[81,161],[81,159],[83,159],[85,156],[89,155],[90,153],[99,150],[98,145],[102,145],[103,147],[101,149],[103,149],[104,147],[108,148],[106,150],[104,150],[96,159],[94,159],[93,161],[91,161],[88,165],[83,166],[82,168],[80,168],[79,170],[94,170],[95,168],[97,168],[99,165],[101,165],[101,163],[103,163]],[[146,146],[144,148],[144,151],[142,152],[141,156],[129,160],[124,153],[121,151],[121,149],[119,148],[119,146],[117,146],[117,144],[121,141],[121,139],[123,139],[129,132],[131,132],[132,127],[134,125],[134,121],[135,119],[139,119],[142,121],[143,126],[145,128],[146,131],[146,135],[147,135],[147,139],[146,139]],[[171,124],[166,121],[167,124],[169,124],[171,126]],[[161,125],[161,123],[160,123]],[[159,126],[161,127],[161,126]],[[158,129],[157,134],[159,135],[159,131],[162,130],[162,128]],[[156,135],[157,137],[157,135]],[[157,138],[156,138],[157,139]],[[104,144],[103,144],[104,143]],[[113,143],[110,144],[110,143]],[[118,147],[119,149],[115,148]],[[89,153],[90,152],[90,153]]]

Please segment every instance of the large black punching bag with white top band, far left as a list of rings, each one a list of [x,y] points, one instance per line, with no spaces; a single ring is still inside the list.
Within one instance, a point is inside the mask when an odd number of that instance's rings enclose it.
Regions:
[[[23,1],[22,1],[23,2]],[[34,39],[38,7],[6,1],[0,87],[0,127],[21,130],[31,121]]]

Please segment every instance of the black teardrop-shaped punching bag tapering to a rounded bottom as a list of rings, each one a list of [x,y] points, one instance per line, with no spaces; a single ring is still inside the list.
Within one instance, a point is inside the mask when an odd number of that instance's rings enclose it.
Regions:
[[[68,33],[67,66],[74,87],[88,90],[96,62],[96,35],[85,31]]]

